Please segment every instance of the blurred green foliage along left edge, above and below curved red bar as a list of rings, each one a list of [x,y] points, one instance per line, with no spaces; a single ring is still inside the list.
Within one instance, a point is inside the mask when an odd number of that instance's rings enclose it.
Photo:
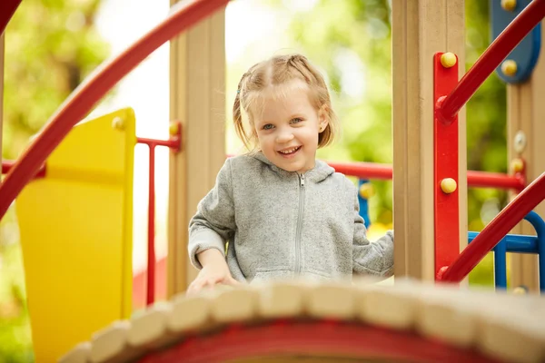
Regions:
[[[109,53],[94,29],[100,0],[24,1],[5,31],[2,154],[29,137]],[[0,363],[34,360],[15,213],[0,224]]]

